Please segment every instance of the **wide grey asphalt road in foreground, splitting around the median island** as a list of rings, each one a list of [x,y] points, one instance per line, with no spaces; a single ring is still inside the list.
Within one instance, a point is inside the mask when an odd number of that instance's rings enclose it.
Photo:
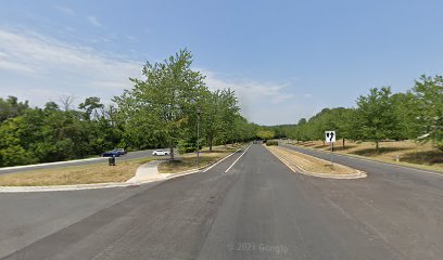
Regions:
[[[337,161],[365,170],[368,178],[294,173],[254,144],[206,172],[131,190],[94,191],[89,194],[94,205],[74,204],[77,218],[63,224],[64,213],[50,217],[62,207],[53,203],[62,199],[59,193],[40,195],[45,199],[0,195],[8,217],[0,219],[0,227],[10,220],[9,233],[0,232],[0,251],[11,237],[26,238],[0,258],[442,259],[442,176],[345,157]],[[99,193],[111,194],[115,203]],[[67,214],[66,205],[79,195],[63,194]],[[33,206],[25,210],[28,199]],[[52,206],[34,220],[39,204]],[[26,224],[14,226],[20,222]],[[56,227],[36,231],[31,242],[27,232],[33,223],[51,222]]]

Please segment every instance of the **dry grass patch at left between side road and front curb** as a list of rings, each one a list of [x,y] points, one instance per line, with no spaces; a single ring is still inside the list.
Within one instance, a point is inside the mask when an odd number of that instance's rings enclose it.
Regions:
[[[31,170],[0,174],[1,186],[51,186],[124,182],[136,174],[137,168],[154,158],[117,161],[116,166],[99,162],[87,166],[71,166],[56,169]]]

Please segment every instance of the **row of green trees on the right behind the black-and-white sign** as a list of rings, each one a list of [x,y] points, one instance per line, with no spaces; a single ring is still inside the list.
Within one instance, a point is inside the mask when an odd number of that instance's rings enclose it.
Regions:
[[[374,88],[354,108],[325,108],[296,125],[270,129],[277,138],[299,141],[324,140],[326,130],[336,130],[343,145],[345,140],[371,141],[378,150],[383,140],[418,140],[443,150],[443,77],[423,75],[405,93]]]

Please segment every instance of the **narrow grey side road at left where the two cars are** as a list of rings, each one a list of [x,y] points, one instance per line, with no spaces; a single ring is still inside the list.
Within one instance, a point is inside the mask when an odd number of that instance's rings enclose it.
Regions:
[[[152,156],[152,152],[154,150],[144,150],[144,151],[137,151],[137,152],[129,152],[128,154],[116,157],[116,161],[127,160],[127,159],[138,159]],[[66,161],[56,161],[56,162],[48,162],[48,164],[39,164],[39,165],[30,165],[30,166],[17,166],[17,167],[5,167],[0,168],[0,174],[4,173],[12,173],[12,172],[23,172],[23,171],[30,171],[30,170],[40,170],[40,169],[54,169],[61,168],[66,166],[81,166],[81,165],[93,165],[99,162],[107,161],[107,157],[96,157],[96,158],[88,158],[88,159],[79,159],[79,160],[66,160]]]

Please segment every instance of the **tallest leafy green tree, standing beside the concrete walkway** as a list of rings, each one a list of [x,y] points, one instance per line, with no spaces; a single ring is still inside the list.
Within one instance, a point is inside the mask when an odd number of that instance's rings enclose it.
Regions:
[[[137,121],[155,139],[163,139],[170,148],[182,138],[189,119],[189,112],[195,110],[192,101],[205,84],[204,76],[191,69],[192,54],[180,50],[163,63],[147,63],[143,67],[144,80],[131,78],[135,87],[126,90],[114,101],[127,122]]]

